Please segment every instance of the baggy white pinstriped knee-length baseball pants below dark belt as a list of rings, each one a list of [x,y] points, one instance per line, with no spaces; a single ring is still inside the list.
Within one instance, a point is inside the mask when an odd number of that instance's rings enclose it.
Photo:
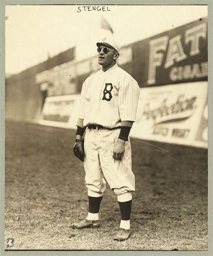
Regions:
[[[102,196],[106,188],[106,181],[117,195],[135,191],[135,178],[131,169],[130,140],[125,142],[122,160],[112,157],[119,134],[120,128],[115,130],[105,128],[86,130],[84,170],[85,185],[88,188],[89,196]]]

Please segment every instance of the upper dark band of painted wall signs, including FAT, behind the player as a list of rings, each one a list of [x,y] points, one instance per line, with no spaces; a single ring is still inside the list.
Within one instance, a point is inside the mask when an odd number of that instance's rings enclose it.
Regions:
[[[207,81],[207,31],[207,18],[203,18],[124,45],[118,65],[133,76],[140,87]],[[35,80],[38,84],[49,81],[48,96],[75,94],[80,93],[85,79],[100,69],[96,55],[40,72]]]

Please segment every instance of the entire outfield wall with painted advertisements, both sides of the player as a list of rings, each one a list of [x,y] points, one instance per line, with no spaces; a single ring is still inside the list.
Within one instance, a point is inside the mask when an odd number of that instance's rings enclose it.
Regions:
[[[118,65],[141,88],[132,137],[207,148],[207,31],[200,18],[121,48]],[[6,80],[6,118],[75,129],[82,84],[101,67],[71,57]]]

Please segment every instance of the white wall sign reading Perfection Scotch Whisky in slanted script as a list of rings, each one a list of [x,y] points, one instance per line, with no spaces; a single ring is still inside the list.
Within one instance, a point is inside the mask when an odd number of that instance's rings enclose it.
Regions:
[[[138,139],[195,145],[206,97],[205,81],[142,88],[137,120],[130,135]]]

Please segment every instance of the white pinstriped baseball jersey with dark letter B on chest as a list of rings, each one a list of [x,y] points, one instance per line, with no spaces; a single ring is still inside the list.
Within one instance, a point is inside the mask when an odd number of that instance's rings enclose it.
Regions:
[[[79,118],[89,124],[114,128],[135,121],[140,90],[137,81],[115,64],[89,76],[82,86]]]

